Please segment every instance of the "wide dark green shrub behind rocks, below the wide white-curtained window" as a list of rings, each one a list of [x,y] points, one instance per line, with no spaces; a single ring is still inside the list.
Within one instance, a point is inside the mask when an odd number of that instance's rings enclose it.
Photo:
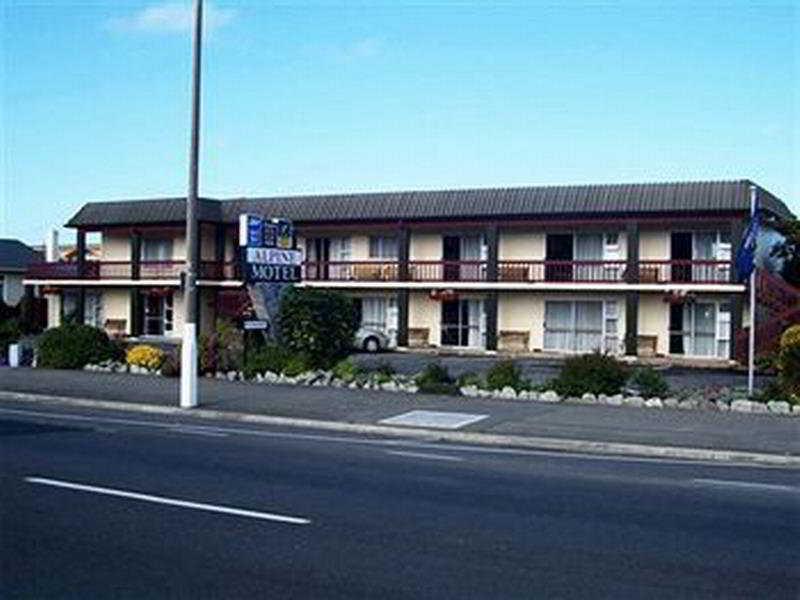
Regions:
[[[569,358],[558,377],[553,380],[553,389],[562,396],[592,394],[618,394],[628,379],[625,366],[613,356],[594,352]]]

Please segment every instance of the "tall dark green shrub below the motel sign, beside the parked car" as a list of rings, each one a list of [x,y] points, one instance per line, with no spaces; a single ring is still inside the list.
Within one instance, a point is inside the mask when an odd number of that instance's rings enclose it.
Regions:
[[[313,288],[290,288],[281,298],[283,343],[312,368],[328,369],[347,357],[356,332],[353,301],[344,294]]]

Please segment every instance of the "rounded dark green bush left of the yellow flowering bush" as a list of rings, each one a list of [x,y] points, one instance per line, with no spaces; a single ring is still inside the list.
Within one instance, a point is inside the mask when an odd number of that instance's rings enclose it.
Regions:
[[[116,349],[102,329],[68,323],[45,331],[39,340],[39,366],[82,369],[113,359]]]

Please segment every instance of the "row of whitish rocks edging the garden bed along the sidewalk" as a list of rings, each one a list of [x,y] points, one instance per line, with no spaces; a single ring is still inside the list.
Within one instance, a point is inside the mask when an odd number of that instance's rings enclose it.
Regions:
[[[135,375],[155,375],[161,376],[160,371],[150,371],[144,367],[128,365],[116,361],[104,361],[84,367],[85,371],[99,373],[132,373]],[[363,390],[381,390],[384,392],[398,392],[416,394],[419,388],[414,383],[414,377],[410,375],[382,375],[377,372],[370,372],[360,375],[355,379],[339,379],[334,376],[332,371],[316,370],[306,371],[297,376],[290,377],[283,373],[273,373],[267,371],[256,375],[255,378],[248,380],[241,371],[218,371],[214,374],[207,374],[207,378],[218,379],[221,381],[250,381],[251,383],[268,385],[300,385],[311,387],[335,387]],[[388,377],[388,379],[387,379]],[[516,391],[512,387],[504,387],[501,390],[487,390],[476,385],[467,385],[459,388],[459,392],[466,398],[482,398],[495,400],[516,400],[524,402],[542,402],[547,404],[590,404],[601,406],[620,406],[646,409],[678,409],[678,410],[704,410],[716,412],[737,412],[745,414],[767,414],[776,416],[800,417],[800,405],[792,406],[783,400],[770,400],[767,403],[756,402],[744,398],[733,399],[730,402],[723,399],[707,400],[697,397],[678,399],[669,398],[643,398],[641,396],[628,394],[584,394],[580,398],[562,397],[554,390],[543,392],[533,390]]]

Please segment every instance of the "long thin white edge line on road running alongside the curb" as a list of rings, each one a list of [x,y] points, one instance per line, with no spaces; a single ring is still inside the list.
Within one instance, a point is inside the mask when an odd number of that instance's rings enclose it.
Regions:
[[[100,417],[100,416],[85,416],[75,415],[69,413],[48,413],[33,410],[17,410],[11,408],[0,408],[0,414],[13,414],[27,417],[41,417],[49,420],[67,420],[67,421],[87,421],[94,423],[115,423],[118,425],[134,425],[138,427],[151,427],[153,429],[173,429],[180,427],[181,423],[170,423],[160,421],[144,421],[136,419],[122,419],[115,417]],[[403,439],[369,439],[369,438],[354,438],[347,436],[325,435],[317,433],[287,433],[283,431],[267,431],[263,429],[247,429],[238,427],[204,427],[207,431],[218,431],[221,433],[230,433],[234,435],[252,435],[265,438],[276,438],[286,440],[305,440],[313,442],[334,442],[338,444],[354,444],[361,446],[395,446],[403,448],[420,448],[428,450],[442,450],[449,451],[470,452],[473,454],[498,454],[509,456],[544,456],[548,458],[566,458],[566,459],[580,459],[592,460],[598,462],[624,462],[624,463],[659,463],[669,465],[708,465],[717,468],[748,468],[748,469],[783,469],[783,467],[770,466],[770,465],[755,465],[750,463],[724,463],[712,460],[694,460],[694,459],[681,459],[681,458],[657,458],[657,457],[644,457],[644,456],[616,456],[613,454],[599,455],[587,454],[583,452],[568,452],[559,450],[534,450],[534,449],[520,449],[520,448],[492,448],[488,446],[467,446],[465,444],[443,444],[435,442],[418,442],[415,440]],[[312,429],[312,428],[309,428]]]

